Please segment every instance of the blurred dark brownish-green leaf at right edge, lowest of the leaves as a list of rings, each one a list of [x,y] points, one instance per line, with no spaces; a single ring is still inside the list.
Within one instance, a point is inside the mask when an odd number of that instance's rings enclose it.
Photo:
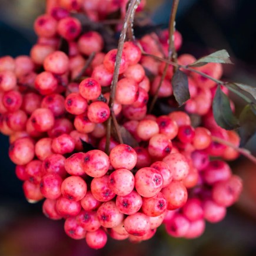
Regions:
[[[242,110],[239,121],[241,127],[238,132],[241,137],[241,146],[243,147],[256,132],[256,115],[252,111],[250,104],[246,105]]]

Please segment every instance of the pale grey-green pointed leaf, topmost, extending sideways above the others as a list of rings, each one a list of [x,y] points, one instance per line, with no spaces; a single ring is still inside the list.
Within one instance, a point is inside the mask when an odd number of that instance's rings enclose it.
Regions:
[[[194,63],[189,64],[189,67],[201,67],[210,62],[232,64],[228,52],[226,50],[220,50],[198,59]]]

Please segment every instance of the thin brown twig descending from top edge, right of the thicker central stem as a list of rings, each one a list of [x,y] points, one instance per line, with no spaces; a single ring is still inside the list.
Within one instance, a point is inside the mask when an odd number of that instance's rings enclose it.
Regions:
[[[171,9],[171,15],[169,18],[169,46],[168,46],[168,60],[174,61],[177,63],[177,52],[174,45],[174,32],[175,32],[175,17],[178,9],[179,0],[174,0],[172,2],[172,9]],[[148,109],[148,113],[151,113],[152,109],[154,108],[155,102],[157,102],[158,94],[160,91],[160,88],[162,86],[162,82],[165,79],[165,76],[167,74],[169,64],[165,64],[164,71],[162,72],[161,80],[159,81],[157,91],[155,92],[155,95],[151,101],[151,104]],[[174,66],[174,72],[176,71],[177,67]]]

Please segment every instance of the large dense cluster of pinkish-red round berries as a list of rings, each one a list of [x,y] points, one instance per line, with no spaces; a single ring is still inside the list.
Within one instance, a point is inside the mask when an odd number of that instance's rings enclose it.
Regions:
[[[198,237],[205,220],[221,221],[242,189],[241,179],[224,161],[237,158],[237,151],[212,141],[214,135],[240,143],[234,131],[214,121],[214,82],[185,71],[191,94],[187,112],[147,114],[156,93],[172,104],[173,67],[157,92],[165,64],[141,51],[167,55],[167,31],[125,42],[109,108],[117,49],[104,52],[101,34],[83,32],[72,14],[99,21],[121,8],[124,16],[127,2],[49,2],[48,12],[35,21],[38,42],[30,55],[0,58],[0,131],[9,135],[9,157],[24,181],[25,197],[29,202],[45,198],[46,217],[63,218],[67,235],[85,238],[92,248],[104,247],[107,234],[116,240],[148,240],[162,223],[173,237]],[[68,52],[59,49],[62,39]],[[181,42],[176,31],[177,50]],[[192,55],[178,57],[182,65],[194,61]],[[197,69],[217,79],[222,75],[220,64]],[[189,114],[200,115],[201,126],[193,127]],[[119,143],[114,135],[107,138],[111,115],[135,146]],[[85,144],[94,149],[85,150]]]

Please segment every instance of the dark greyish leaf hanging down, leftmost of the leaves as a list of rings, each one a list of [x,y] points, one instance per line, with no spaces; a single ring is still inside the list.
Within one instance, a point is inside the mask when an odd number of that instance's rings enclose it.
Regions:
[[[172,89],[179,107],[190,99],[187,74],[177,69],[172,77]]]

